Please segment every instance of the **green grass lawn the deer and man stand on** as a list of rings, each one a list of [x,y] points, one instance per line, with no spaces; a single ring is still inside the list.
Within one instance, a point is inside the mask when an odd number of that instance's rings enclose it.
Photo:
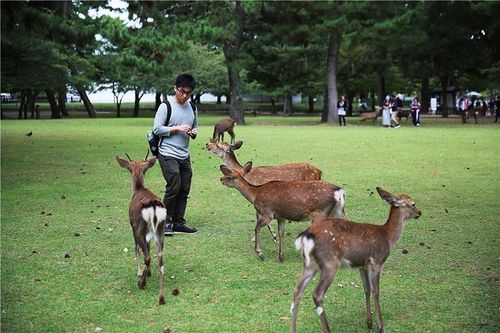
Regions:
[[[220,184],[220,160],[203,149],[218,118],[202,115],[191,143],[186,217],[200,232],[166,240],[165,306],[157,305],[156,262],[146,289],[136,286],[131,180],[115,160],[125,152],[144,157],[151,119],[2,121],[2,332],[287,332],[302,266],[293,241],[307,224],[287,225],[284,263],[263,231],[267,259],[257,259],[254,209]],[[416,201],[423,216],[408,221],[381,278],[390,332],[500,330],[498,126],[456,119],[400,129],[358,127],[357,119],[347,128],[310,117],[247,121],[235,129],[245,142],[240,162],[313,163],[345,188],[354,221],[387,218],[388,206],[372,194],[376,186]],[[146,185],[161,195],[158,166]],[[300,332],[321,330],[311,299],[316,281],[300,306]],[[337,274],[325,311],[333,332],[366,331],[357,271]]]

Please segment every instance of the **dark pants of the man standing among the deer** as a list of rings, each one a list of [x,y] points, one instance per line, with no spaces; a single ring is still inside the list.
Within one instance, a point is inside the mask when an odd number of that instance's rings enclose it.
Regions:
[[[191,189],[191,159],[178,160],[173,157],[158,155],[163,178],[167,182],[163,204],[167,208],[167,216],[174,224],[184,224],[187,198]]]

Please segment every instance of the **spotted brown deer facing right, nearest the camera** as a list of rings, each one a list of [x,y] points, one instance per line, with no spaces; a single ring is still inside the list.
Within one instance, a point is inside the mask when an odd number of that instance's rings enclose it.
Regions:
[[[392,195],[377,187],[380,197],[391,205],[389,218],[384,225],[361,224],[339,218],[315,219],[301,232],[295,247],[303,258],[303,270],[290,308],[290,332],[295,333],[300,299],[316,272],[320,271],[318,285],[313,293],[316,311],[320,316],[323,332],[330,332],[323,299],[341,266],[359,268],[363,281],[368,328],[372,328],[370,296],[373,294],[375,316],[379,332],[386,332],[380,313],[380,272],[392,246],[403,232],[405,220],[418,219],[422,212],[415,202],[404,194]]]

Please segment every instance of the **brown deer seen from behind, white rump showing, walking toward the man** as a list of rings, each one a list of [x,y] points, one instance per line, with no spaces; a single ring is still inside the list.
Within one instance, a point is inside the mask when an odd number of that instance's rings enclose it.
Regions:
[[[148,150],[149,154],[149,150]],[[146,171],[156,163],[156,157],[152,156],[144,160],[132,161],[127,155],[128,161],[123,157],[116,156],[118,164],[127,169],[132,175],[132,199],[129,205],[130,225],[135,241],[135,258],[137,262],[137,284],[139,289],[146,287],[146,279],[151,276],[151,254],[150,242],[154,240],[158,266],[160,269],[160,305],[165,304],[163,290],[163,240],[164,226],[167,218],[167,210],[162,200],[153,192],[144,187],[144,175]],[[141,251],[144,256],[144,269],[141,270]]]

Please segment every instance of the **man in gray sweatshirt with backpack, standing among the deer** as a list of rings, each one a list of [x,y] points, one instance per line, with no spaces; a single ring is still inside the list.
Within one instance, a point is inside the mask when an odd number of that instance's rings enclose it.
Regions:
[[[193,176],[189,139],[195,139],[198,133],[196,107],[189,101],[195,86],[196,81],[192,75],[179,75],[175,79],[175,95],[168,101],[170,118],[167,104],[162,103],[154,120],[153,132],[160,136],[158,161],[167,182],[163,197],[167,208],[165,236],[172,236],[174,232],[197,232],[196,228],[188,227],[184,219]]]

